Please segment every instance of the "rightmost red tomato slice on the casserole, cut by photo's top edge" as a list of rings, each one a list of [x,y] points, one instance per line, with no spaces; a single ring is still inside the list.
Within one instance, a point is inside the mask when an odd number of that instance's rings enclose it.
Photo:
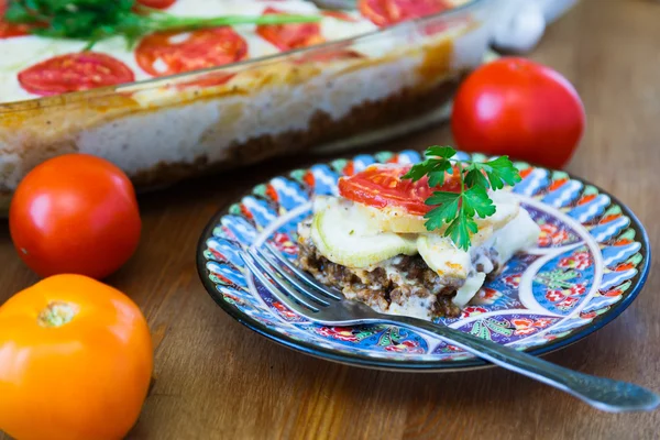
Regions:
[[[378,26],[442,12],[450,7],[444,0],[360,0],[362,15]]]

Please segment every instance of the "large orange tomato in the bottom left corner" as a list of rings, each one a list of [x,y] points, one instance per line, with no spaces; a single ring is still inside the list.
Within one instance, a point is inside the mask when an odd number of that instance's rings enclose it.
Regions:
[[[0,307],[0,430],[19,440],[120,439],[153,369],[138,306],[81,275],[56,275]]]

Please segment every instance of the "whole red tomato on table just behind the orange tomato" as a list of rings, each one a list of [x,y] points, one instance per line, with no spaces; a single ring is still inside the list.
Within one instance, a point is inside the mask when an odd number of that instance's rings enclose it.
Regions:
[[[133,185],[110,162],[66,154],[19,184],[9,208],[13,244],[30,268],[103,278],[138,248],[141,220]]]

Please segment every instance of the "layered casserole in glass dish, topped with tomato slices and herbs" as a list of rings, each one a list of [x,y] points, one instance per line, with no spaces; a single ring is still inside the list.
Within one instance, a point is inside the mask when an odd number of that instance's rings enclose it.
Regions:
[[[0,208],[30,169],[65,153],[105,157],[140,189],[437,121],[483,62],[496,1],[31,9],[65,3],[0,0]],[[85,8],[101,7],[92,16],[119,22],[85,34]]]

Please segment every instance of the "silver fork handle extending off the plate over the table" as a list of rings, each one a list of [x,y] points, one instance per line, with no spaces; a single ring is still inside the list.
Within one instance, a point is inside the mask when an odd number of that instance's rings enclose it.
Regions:
[[[397,317],[387,321],[424,329],[481,359],[564,391],[604,411],[648,411],[660,404],[658,395],[641,386],[564,369],[450,327],[410,317]]]

